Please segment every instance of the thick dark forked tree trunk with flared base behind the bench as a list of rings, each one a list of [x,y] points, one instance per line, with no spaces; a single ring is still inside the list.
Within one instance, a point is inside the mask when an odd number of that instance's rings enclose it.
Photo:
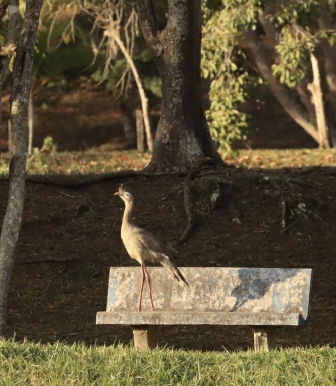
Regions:
[[[163,30],[156,24],[150,0],[137,0],[137,5],[141,29],[162,81],[161,117],[148,169],[186,171],[203,157],[223,164],[202,106],[201,1],[168,0]]]

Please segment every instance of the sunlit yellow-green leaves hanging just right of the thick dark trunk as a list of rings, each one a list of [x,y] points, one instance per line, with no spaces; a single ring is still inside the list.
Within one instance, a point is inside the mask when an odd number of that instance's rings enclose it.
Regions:
[[[259,4],[256,0],[203,2],[208,19],[203,27],[202,74],[211,80],[206,116],[213,139],[226,153],[235,140],[245,138],[247,116],[239,106],[253,82],[244,51],[237,44],[241,40],[238,26],[254,28]]]

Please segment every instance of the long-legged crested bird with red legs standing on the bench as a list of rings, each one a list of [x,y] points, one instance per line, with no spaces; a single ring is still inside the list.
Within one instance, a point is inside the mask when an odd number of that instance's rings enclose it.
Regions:
[[[138,301],[138,311],[141,311],[142,293],[144,289],[145,277],[147,279],[149,298],[151,309],[155,311],[152,297],[151,278],[146,269],[145,262],[160,263],[164,267],[168,267],[174,274],[175,279],[185,286],[189,286],[180,270],[171,256],[171,253],[166,246],[156,239],[152,233],[142,229],[134,224],[132,212],[134,207],[134,197],[130,192],[124,190],[123,186],[119,187],[118,192],[114,193],[119,196],[125,203],[123,220],[120,230],[120,235],[127,253],[130,257],[136,260],[142,271],[140,294]]]

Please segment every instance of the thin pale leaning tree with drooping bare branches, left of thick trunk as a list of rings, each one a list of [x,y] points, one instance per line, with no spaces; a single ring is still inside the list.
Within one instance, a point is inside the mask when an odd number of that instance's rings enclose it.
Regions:
[[[139,44],[138,16],[134,3],[123,0],[72,0],[71,2],[54,0],[48,4],[49,19],[52,20],[49,34],[55,35],[54,31],[60,31],[63,27],[60,44],[66,41],[74,43],[76,40],[76,46],[78,46],[76,36],[78,29],[84,30],[82,35],[89,34],[90,42],[86,48],[90,46],[94,59],[85,72],[91,72],[91,77],[98,86],[104,83],[113,96],[115,105],[120,104],[121,121],[129,145],[134,145],[135,142],[134,116],[132,117],[134,111],[132,110],[140,110],[137,116],[140,116],[141,124],[145,128],[147,146],[151,151],[153,139],[148,100],[143,85],[143,76],[139,74],[137,68],[138,63],[143,60],[137,60],[135,56],[138,56],[139,59],[139,55],[135,55],[134,52],[135,48],[139,52],[139,46],[143,46]],[[70,22],[67,22],[66,19],[70,19]],[[64,49],[64,44],[62,46]],[[55,50],[55,55],[58,51],[58,49]],[[74,53],[75,50],[72,52]],[[42,53],[45,56],[45,51],[42,50]],[[72,56],[73,54],[70,53],[69,58]],[[50,55],[48,54],[47,57]],[[77,61],[72,61],[74,62]]]

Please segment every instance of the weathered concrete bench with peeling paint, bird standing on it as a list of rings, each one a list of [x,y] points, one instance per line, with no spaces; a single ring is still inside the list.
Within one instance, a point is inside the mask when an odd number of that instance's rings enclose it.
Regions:
[[[147,288],[142,311],[137,311],[140,267],[111,267],[107,309],[96,318],[97,324],[130,325],[139,350],[157,345],[158,326],[184,324],[251,326],[255,350],[268,351],[276,327],[308,322],[311,269],[184,267],[189,287],[167,268],[148,271],[154,312]]]

